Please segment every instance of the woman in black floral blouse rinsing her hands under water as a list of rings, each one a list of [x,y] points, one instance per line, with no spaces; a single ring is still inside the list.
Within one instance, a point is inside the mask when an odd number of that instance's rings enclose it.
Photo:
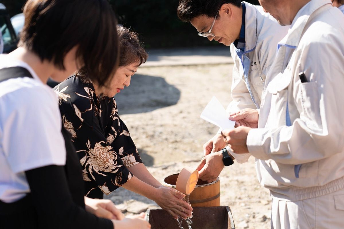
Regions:
[[[85,195],[103,198],[122,186],[154,200],[174,218],[191,216],[184,194],[160,184],[142,163],[113,98],[130,84],[148,57],[136,33],[118,26],[120,61],[111,87],[100,89],[81,69],[55,87],[65,128],[72,134],[82,165]],[[178,214],[178,215],[177,215]]]

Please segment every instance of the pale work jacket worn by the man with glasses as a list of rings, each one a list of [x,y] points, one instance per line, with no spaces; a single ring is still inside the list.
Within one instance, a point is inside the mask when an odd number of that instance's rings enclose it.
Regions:
[[[244,108],[259,108],[264,82],[275,59],[277,43],[287,34],[289,26],[281,26],[261,6],[243,2],[245,15],[245,49],[232,43],[230,54],[234,60],[228,112]]]

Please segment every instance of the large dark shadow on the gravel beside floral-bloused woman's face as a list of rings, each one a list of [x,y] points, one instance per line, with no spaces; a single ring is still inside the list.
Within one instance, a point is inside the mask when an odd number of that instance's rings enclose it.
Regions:
[[[175,105],[180,99],[180,90],[167,83],[164,78],[135,75],[130,86],[115,95],[118,114],[138,114]]]

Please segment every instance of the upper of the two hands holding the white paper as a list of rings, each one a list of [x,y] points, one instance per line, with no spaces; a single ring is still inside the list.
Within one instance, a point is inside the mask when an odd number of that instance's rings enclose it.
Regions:
[[[258,128],[258,118],[258,111],[251,108],[245,108],[236,113],[229,114],[229,119],[235,121],[235,127],[246,126]]]

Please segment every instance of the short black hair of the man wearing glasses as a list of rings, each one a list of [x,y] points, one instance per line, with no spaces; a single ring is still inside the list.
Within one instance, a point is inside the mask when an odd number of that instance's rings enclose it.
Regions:
[[[226,3],[241,7],[240,0],[179,0],[177,15],[183,22],[190,22],[193,18],[202,15],[215,18],[220,7]]]

